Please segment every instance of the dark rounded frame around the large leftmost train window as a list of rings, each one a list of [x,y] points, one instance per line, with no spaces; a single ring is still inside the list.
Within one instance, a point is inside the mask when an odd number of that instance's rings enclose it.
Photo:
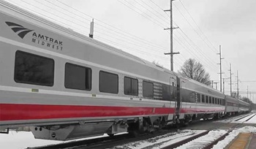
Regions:
[[[52,83],[50,83],[50,84],[42,84],[42,83],[31,83],[31,82],[28,82],[28,81],[17,80],[15,78],[15,75],[17,73],[17,70],[16,70],[16,56],[17,56],[17,53],[23,53],[23,54],[26,54],[26,55],[29,55],[29,56],[34,56],[34,57],[37,57],[37,58],[44,58],[44,59],[48,59],[48,60],[52,61],[53,62],[53,70],[52,70],[52,72],[53,72],[53,76],[52,76],[53,80],[52,80]],[[15,52],[14,75],[13,75],[13,77],[14,77],[13,79],[15,80],[15,83],[23,83],[23,84],[29,84],[29,85],[41,85],[41,86],[53,87],[53,85],[54,85],[54,77],[55,77],[54,70],[55,70],[55,61],[54,61],[53,58],[48,58],[48,57],[45,57],[45,56],[39,56],[39,55],[34,54],[34,53],[24,52],[23,50],[16,50],[16,52]]]

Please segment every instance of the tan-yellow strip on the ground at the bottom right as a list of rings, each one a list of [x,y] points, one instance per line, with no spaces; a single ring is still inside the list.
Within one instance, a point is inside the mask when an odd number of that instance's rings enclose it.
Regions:
[[[252,138],[252,133],[239,133],[238,137],[230,145],[228,149],[244,149],[247,147],[249,140]]]

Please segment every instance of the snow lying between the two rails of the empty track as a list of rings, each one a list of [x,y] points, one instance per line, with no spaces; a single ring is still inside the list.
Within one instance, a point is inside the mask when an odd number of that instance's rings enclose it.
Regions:
[[[187,142],[184,145],[179,146],[176,149],[183,149],[183,148],[203,148],[209,143],[213,142],[214,140],[217,140],[219,137],[221,137],[223,134],[227,133],[225,130],[214,130],[209,131],[208,134],[198,137],[195,140],[192,140],[190,142]]]

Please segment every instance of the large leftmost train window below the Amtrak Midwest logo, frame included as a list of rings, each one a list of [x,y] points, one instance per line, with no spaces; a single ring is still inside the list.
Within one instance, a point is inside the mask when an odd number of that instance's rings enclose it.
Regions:
[[[54,61],[17,50],[15,53],[14,80],[16,83],[53,86]]]

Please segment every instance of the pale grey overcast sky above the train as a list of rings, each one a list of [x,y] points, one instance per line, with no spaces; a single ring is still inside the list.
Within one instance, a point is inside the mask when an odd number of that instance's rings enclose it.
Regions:
[[[71,28],[86,36],[94,18],[94,39],[170,69],[170,0],[6,0],[23,9]],[[219,82],[219,45],[222,45],[224,78],[232,64],[233,91],[236,72],[239,88],[247,85],[256,101],[256,1],[173,1],[173,52],[175,72],[188,58],[205,66],[211,80]],[[225,92],[230,92],[229,79]],[[214,85],[215,88],[215,85]],[[217,87],[219,89],[219,85]],[[250,95],[249,95],[250,97]]]

